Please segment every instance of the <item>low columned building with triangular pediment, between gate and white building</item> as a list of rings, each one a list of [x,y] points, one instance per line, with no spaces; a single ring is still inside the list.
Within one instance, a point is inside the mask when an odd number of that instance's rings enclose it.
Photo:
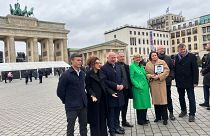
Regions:
[[[86,65],[87,59],[91,56],[96,56],[101,60],[101,63],[104,64],[107,61],[107,53],[113,51],[117,52],[125,52],[126,53],[126,46],[128,44],[119,41],[117,39],[107,41],[101,44],[81,48],[81,49],[68,49],[69,56],[72,53],[79,53],[82,54],[83,58],[83,65]]]

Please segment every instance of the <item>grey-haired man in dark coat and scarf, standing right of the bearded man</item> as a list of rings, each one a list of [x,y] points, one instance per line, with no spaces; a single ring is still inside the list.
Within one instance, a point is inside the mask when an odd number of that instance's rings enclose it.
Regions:
[[[187,114],[185,90],[189,99],[189,122],[195,121],[196,103],[194,87],[198,85],[198,65],[196,56],[189,53],[185,44],[178,46],[179,53],[175,57],[175,81],[179,93],[181,113],[179,117]]]

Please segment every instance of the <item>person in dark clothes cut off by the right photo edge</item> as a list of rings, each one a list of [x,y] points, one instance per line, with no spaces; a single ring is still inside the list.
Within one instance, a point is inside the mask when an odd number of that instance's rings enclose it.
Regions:
[[[203,92],[204,92],[204,103],[199,104],[200,106],[207,107],[207,110],[210,110],[209,107],[209,88],[210,88],[210,43],[207,44],[206,49],[208,54],[206,56],[206,61],[204,67],[201,70],[203,78]]]

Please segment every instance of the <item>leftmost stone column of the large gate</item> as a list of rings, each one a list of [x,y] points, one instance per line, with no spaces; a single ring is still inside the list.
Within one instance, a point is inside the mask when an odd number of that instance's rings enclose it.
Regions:
[[[15,40],[13,36],[8,36],[4,39],[5,62],[16,62]]]

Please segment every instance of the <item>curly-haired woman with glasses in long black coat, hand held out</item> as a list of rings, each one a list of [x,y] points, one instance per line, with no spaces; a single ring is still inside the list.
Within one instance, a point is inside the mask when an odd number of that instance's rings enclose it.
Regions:
[[[107,93],[117,97],[115,92],[105,85],[105,75],[100,70],[100,60],[91,57],[88,60],[90,71],[86,75],[86,90],[88,94],[88,123],[91,136],[108,136],[107,134]]]

